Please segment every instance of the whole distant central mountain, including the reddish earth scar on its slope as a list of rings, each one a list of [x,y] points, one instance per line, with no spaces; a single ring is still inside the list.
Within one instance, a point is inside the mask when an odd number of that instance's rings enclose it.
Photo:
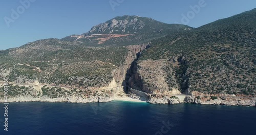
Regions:
[[[170,33],[191,29],[189,26],[165,24],[148,17],[124,15],[96,25],[87,33],[67,36],[61,40],[77,40],[87,46],[106,46],[109,44],[127,46],[149,42]]]

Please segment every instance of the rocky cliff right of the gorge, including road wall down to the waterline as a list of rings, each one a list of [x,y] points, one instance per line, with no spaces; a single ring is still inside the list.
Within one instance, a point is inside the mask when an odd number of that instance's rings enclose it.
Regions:
[[[139,58],[140,55],[137,57]],[[178,104],[184,102],[184,97],[175,96],[180,94],[177,88],[169,87],[166,83],[166,66],[164,60],[144,60],[137,63],[138,58],[133,62],[127,73],[130,94],[129,97],[144,100],[152,104]]]

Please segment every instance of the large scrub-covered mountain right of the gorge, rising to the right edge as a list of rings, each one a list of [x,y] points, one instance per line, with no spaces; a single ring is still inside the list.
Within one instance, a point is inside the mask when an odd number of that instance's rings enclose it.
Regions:
[[[141,78],[130,84],[156,94],[255,97],[255,20],[253,9],[152,41],[136,65]]]

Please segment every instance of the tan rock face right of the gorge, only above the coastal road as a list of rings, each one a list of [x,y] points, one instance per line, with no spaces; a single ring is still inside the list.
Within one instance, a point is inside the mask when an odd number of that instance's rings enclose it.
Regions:
[[[177,87],[170,87],[167,84],[166,64],[165,60],[142,60],[139,63],[136,62],[131,70],[133,75],[129,79],[130,87],[152,94],[180,94]],[[177,85],[175,80],[174,83]]]

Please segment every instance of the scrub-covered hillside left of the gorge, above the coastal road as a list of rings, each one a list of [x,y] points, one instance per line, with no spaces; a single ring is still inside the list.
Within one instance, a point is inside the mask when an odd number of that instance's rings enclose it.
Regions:
[[[54,46],[50,44],[55,42]],[[58,43],[62,43],[61,46]],[[31,50],[31,47],[37,50]],[[108,85],[113,78],[111,72],[123,64],[127,55],[124,47],[84,47],[79,43],[70,46],[68,42],[58,39],[39,40],[12,50],[0,56],[1,59],[13,59],[10,62],[0,61],[0,72],[10,71],[7,76],[9,81],[14,82],[19,78],[18,83],[25,83],[37,79],[40,83],[69,84],[84,88]]]

